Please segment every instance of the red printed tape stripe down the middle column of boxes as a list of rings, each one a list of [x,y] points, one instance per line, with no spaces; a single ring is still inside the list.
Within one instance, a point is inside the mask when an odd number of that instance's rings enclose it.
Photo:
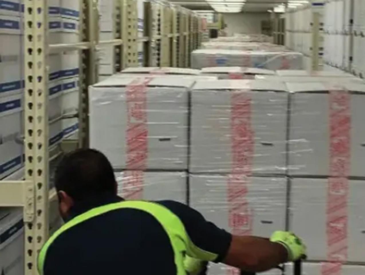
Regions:
[[[251,235],[253,211],[246,198],[254,150],[249,89],[235,90],[231,96],[231,143],[232,170],[227,184],[228,223],[233,234]],[[228,268],[227,274],[239,275],[240,271]]]

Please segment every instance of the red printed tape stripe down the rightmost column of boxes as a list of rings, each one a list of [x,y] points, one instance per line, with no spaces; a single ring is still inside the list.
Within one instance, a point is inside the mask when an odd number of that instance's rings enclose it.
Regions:
[[[327,261],[322,275],[341,274],[347,261],[347,200],[351,154],[351,95],[343,89],[329,92],[330,177],[327,188]]]

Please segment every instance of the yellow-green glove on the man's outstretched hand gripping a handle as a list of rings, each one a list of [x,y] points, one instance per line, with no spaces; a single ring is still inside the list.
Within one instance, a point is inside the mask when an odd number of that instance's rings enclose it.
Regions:
[[[304,259],[307,254],[307,247],[303,241],[291,232],[277,231],[272,234],[270,241],[278,242],[287,249],[288,261]]]

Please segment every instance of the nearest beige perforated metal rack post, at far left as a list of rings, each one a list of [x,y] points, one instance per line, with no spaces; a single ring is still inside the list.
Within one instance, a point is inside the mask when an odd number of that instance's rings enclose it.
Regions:
[[[37,274],[37,255],[48,235],[47,1],[24,3],[25,167],[34,197],[24,207],[25,274]]]

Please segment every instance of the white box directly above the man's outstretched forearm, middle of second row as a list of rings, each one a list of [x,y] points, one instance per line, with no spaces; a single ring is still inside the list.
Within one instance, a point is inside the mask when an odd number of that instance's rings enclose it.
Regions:
[[[241,184],[241,182],[238,182]],[[285,230],[287,207],[287,179],[272,177],[247,177],[246,194],[230,190],[229,175],[190,175],[190,205],[208,220],[232,232],[230,209],[240,203],[248,203],[250,218],[242,224],[242,229],[254,236],[270,237],[276,230]],[[239,188],[237,186],[236,188]],[[230,196],[235,202],[230,202]]]

